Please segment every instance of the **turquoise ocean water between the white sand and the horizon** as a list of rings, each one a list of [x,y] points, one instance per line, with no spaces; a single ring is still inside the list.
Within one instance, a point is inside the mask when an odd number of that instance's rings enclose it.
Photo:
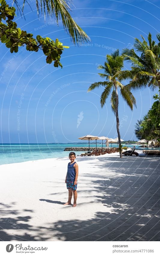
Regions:
[[[90,147],[95,147],[91,144]],[[103,147],[105,145],[103,144]],[[124,145],[133,147],[134,145]],[[0,144],[0,165],[8,163],[20,163],[47,158],[66,157],[69,152],[64,151],[65,147],[88,147],[86,144]],[[97,144],[97,147],[102,147],[102,144]],[[117,144],[112,144],[112,147],[117,147]],[[142,149],[138,148],[137,149]],[[82,153],[76,151],[76,155]]]

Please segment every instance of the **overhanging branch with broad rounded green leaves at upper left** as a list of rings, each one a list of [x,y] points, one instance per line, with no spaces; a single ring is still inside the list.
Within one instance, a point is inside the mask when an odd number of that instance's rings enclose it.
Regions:
[[[17,28],[17,23],[12,21],[16,16],[15,8],[9,7],[5,0],[0,0],[0,3],[0,40],[5,43],[7,48],[10,48],[10,52],[18,52],[18,47],[24,45],[26,45],[27,51],[38,52],[41,49],[47,56],[47,63],[51,64],[54,61],[54,67],[60,66],[62,68],[61,54],[63,48],[69,47],[63,46],[58,39],[54,42],[49,37],[42,38],[40,35],[35,39],[33,34]],[[6,24],[2,23],[2,20],[6,20]]]

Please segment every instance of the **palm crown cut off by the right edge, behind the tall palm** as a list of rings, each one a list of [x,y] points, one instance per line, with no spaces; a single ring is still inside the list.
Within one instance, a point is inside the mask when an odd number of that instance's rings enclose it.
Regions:
[[[148,43],[135,38],[134,49],[124,49],[125,60],[132,63],[131,71],[124,71],[123,77],[130,78],[128,86],[134,90],[150,87],[152,90],[160,88],[160,34],[158,43],[148,34]],[[140,53],[140,54],[139,54]]]

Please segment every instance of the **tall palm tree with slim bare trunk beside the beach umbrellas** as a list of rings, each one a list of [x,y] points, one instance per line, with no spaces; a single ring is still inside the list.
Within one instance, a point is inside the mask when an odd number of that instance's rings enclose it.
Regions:
[[[118,116],[118,90],[122,95],[123,99],[126,101],[128,106],[133,110],[133,105],[135,105],[136,101],[134,96],[132,95],[129,87],[123,85],[121,82],[124,80],[122,77],[122,68],[124,57],[119,55],[119,50],[116,50],[111,55],[106,56],[106,62],[104,62],[104,66],[100,65],[98,69],[103,69],[104,74],[99,74],[101,78],[105,78],[104,82],[95,82],[91,84],[88,91],[91,91],[98,87],[104,87],[104,91],[101,94],[101,107],[104,106],[107,98],[111,94],[110,103],[111,109],[116,115],[116,128],[118,134],[118,143],[119,148],[121,148],[121,140],[120,140],[120,132],[119,132],[119,116]],[[112,91],[111,91],[112,90]],[[122,157],[122,151],[119,152],[120,157]]]

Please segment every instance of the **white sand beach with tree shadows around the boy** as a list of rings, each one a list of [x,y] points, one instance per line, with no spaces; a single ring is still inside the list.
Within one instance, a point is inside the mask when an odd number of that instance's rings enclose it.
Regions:
[[[159,241],[160,157],[77,156],[74,208],[63,206],[68,162],[0,166],[2,241]]]

